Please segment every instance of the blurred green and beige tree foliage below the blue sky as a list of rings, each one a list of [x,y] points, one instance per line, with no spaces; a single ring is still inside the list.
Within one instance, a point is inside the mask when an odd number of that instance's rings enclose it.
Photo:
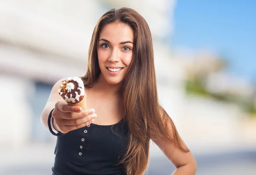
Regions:
[[[227,66],[227,59],[224,59],[221,56],[214,57],[207,54],[195,56],[192,62],[188,62],[185,68],[186,93],[188,95],[195,94],[224,102],[236,103],[239,104],[246,113],[252,114],[251,116],[256,116],[256,93],[254,93],[251,98],[248,98],[247,96],[243,96],[242,93],[237,93],[236,89],[221,90],[223,87],[218,87],[218,82],[214,82],[214,88],[220,90],[209,90],[209,88],[207,88],[207,83],[209,83],[207,80],[209,76],[224,71]]]

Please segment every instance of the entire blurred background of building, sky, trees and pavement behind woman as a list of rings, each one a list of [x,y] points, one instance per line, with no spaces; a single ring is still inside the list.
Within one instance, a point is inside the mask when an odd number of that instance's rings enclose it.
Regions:
[[[120,7],[151,28],[159,98],[197,175],[256,175],[253,0],[0,0],[0,175],[51,174],[56,137],[40,117],[52,85],[85,74],[97,20]],[[150,151],[148,175],[170,175]]]

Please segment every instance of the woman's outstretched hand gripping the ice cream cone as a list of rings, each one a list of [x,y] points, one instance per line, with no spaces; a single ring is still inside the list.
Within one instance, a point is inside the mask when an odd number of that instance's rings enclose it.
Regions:
[[[91,124],[96,116],[94,109],[82,110],[81,107],[69,105],[64,100],[56,102],[52,111],[53,125],[61,133],[85,127]]]

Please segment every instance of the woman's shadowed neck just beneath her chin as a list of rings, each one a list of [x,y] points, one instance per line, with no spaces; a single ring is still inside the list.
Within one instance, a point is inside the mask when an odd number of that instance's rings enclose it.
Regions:
[[[99,74],[99,78],[94,82],[94,90],[101,91],[102,94],[119,95],[120,85],[111,85],[105,78],[102,76],[102,73]]]

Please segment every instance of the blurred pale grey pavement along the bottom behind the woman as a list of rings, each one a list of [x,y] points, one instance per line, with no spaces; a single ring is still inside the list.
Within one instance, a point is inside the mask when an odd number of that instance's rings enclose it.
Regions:
[[[0,175],[51,175],[55,144],[30,144],[22,149],[0,149]],[[195,150],[192,148],[190,150]],[[150,149],[148,175],[171,175],[175,167],[160,149]],[[193,152],[193,151],[192,151]],[[256,175],[256,148],[194,151],[196,175]]]

